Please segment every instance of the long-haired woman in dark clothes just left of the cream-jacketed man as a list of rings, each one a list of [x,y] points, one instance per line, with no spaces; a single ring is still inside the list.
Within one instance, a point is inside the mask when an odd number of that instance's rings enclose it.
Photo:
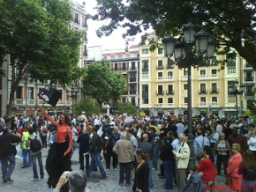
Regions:
[[[162,165],[165,174],[165,187],[163,189],[172,189],[173,188],[173,170],[174,167],[174,156],[172,153],[172,146],[170,144],[169,137],[163,138],[162,150],[160,153],[160,159],[162,160]]]

